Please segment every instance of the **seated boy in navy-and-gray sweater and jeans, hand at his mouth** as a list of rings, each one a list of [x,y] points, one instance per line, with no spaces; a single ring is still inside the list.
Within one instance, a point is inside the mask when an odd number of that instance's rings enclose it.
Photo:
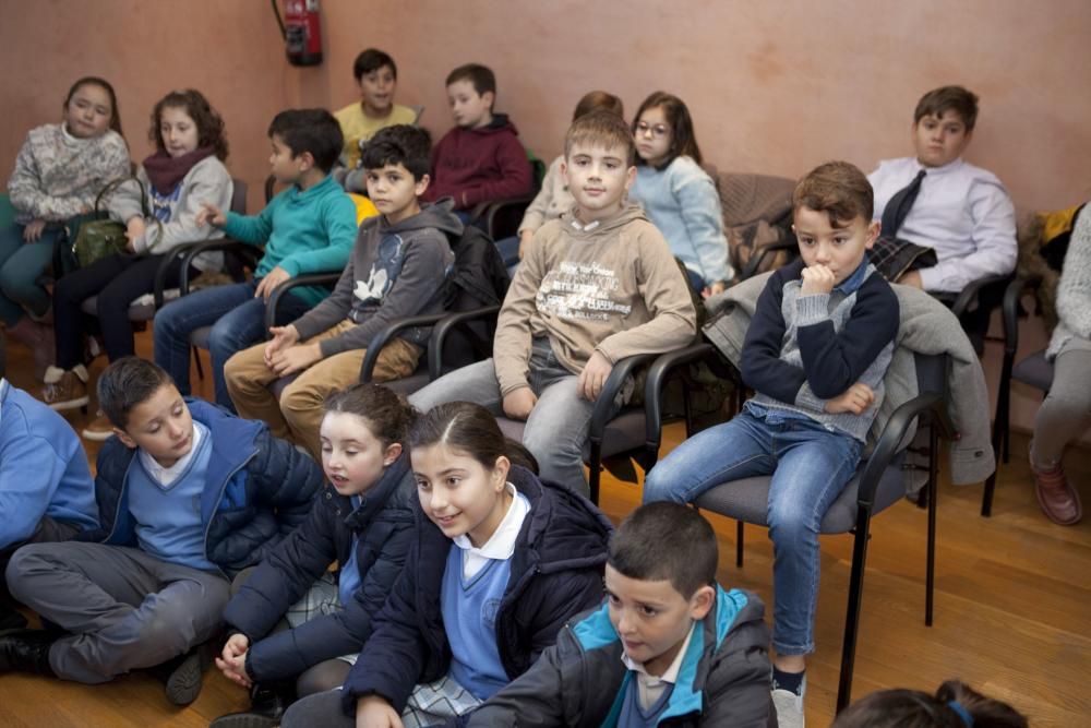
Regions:
[[[803,726],[805,655],[814,652],[818,526],[852,478],[883,402],[898,299],[867,261],[878,237],[872,187],[843,162],[822,165],[792,196],[801,260],[769,278],[742,351],[757,395],[729,422],[657,465],[644,500],[693,501],[722,482],[771,475],[774,702]]]

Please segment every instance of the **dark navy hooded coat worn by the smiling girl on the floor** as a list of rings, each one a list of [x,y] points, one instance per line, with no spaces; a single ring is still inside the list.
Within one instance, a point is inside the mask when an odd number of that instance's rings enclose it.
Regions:
[[[529,668],[573,616],[602,598],[610,521],[568,488],[513,467],[508,480],[530,501],[511,577],[496,613],[496,643],[513,679]],[[452,541],[421,512],[405,570],[343,690],[346,715],[377,694],[399,713],[413,687],[446,675],[451,645],[440,594]]]

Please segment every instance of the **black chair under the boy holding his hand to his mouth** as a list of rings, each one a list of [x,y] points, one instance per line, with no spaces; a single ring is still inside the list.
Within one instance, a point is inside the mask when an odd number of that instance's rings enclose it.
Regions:
[[[698,344],[674,353],[663,365],[679,366],[685,361],[696,361],[714,355],[708,344]],[[837,709],[846,707],[851,697],[852,673],[855,661],[856,636],[863,596],[864,565],[872,516],[901,501],[906,496],[902,446],[914,420],[928,430],[927,468],[927,556],[925,573],[924,623],[932,625],[933,593],[935,583],[935,539],[936,539],[936,496],[938,482],[939,438],[950,439],[954,426],[946,409],[947,358],[945,356],[915,356],[916,378],[920,394],[902,403],[891,415],[879,434],[874,450],[862,461],[856,475],[849,481],[822,522],[823,534],[854,534],[852,572],[849,582],[849,599],[846,611],[844,639],[841,651],[841,673],[838,684]],[[741,378],[734,378],[742,391]],[[651,380],[649,378],[649,386]],[[657,402],[649,391],[648,402]],[[648,446],[659,446],[654,435],[658,432],[655,421],[657,414],[649,409]],[[687,435],[692,431],[687,429]],[[743,525],[746,523],[767,526],[766,511],[769,500],[770,478],[743,478],[726,482],[706,491],[695,502],[698,509],[719,513],[738,521],[735,540],[735,562],[743,563]]]

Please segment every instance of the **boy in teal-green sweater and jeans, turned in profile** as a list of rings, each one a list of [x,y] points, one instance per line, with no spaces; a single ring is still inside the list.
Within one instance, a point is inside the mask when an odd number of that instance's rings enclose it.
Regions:
[[[199,224],[220,227],[229,238],[265,246],[252,281],[205,288],[164,307],[155,317],[155,362],[166,369],[179,391],[190,394],[190,334],[212,326],[216,404],[235,411],[224,381],[231,355],[265,338],[265,305],[289,278],[340,272],[356,239],[356,206],[329,176],[340,154],[340,126],[323,109],[289,109],[269,124],[276,180],[288,186],[259,215],[224,213],[206,204]],[[329,291],[308,286],[280,298],[276,323],[285,325],[311,310]]]

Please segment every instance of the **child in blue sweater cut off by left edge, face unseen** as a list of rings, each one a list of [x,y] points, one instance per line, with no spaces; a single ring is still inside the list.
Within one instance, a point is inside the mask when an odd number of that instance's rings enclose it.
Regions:
[[[0,343],[0,574],[26,544],[64,541],[98,527],[80,438],[63,417],[3,375]],[[0,630],[26,626],[5,604],[5,593],[0,578]]]

